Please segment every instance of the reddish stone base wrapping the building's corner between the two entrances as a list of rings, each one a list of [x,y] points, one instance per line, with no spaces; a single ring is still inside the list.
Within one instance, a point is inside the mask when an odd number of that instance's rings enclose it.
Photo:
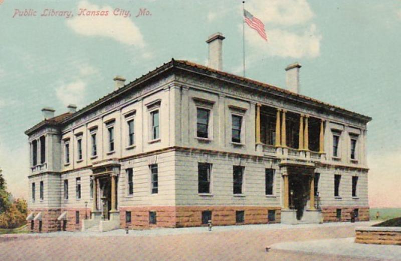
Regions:
[[[275,220],[268,221],[268,210],[275,210]],[[131,211],[131,222],[126,212]],[[157,223],[149,224],[149,211],[156,212]],[[151,227],[192,227],[202,225],[202,211],[212,212],[213,225],[280,223],[280,207],[260,206],[146,206],[121,207],[120,226],[129,229]],[[244,222],[236,223],[236,211],[244,211]]]

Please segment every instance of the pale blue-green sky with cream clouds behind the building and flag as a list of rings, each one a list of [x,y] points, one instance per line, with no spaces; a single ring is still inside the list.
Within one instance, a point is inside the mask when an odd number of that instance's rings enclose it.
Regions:
[[[401,207],[401,0],[248,0],[245,8],[269,39],[245,28],[247,77],[285,88],[284,68],[298,61],[301,94],[371,116],[369,202]],[[9,191],[27,198],[24,131],[43,107],[82,108],[112,92],[114,76],[133,81],[171,58],[206,65],[215,32],[226,37],[223,70],[242,75],[242,24],[240,0],[0,0],[0,168]]]

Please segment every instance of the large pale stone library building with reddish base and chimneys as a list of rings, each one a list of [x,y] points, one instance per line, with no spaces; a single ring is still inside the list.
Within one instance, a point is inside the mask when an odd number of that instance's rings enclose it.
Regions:
[[[319,223],[369,219],[370,117],[174,60],[27,130],[32,231]]]

